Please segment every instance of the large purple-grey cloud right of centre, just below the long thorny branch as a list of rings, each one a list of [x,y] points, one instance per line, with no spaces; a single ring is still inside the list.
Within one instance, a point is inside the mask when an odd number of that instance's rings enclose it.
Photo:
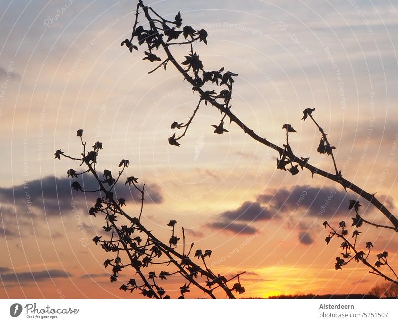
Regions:
[[[381,195],[378,198],[387,207],[394,209],[394,201],[390,196]],[[308,217],[313,220],[315,218],[330,219],[333,216],[346,217],[350,212],[349,200],[356,199],[358,197],[354,194],[328,186],[297,185],[279,190],[266,190],[256,200],[245,201],[237,209],[221,213],[215,222],[208,224],[208,227],[216,230],[225,229],[232,233],[252,234],[256,232],[255,222],[278,218],[281,215],[299,214],[302,217],[301,221]],[[358,200],[364,209],[369,205],[361,198]],[[313,243],[309,227],[301,224],[297,226],[298,240],[303,244]]]

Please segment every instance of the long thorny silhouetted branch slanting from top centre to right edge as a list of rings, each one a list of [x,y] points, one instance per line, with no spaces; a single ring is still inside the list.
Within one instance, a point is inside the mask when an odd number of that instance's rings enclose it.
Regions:
[[[143,25],[138,26],[137,19],[138,15],[141,14],[139,10],[142,10],[145,19],[149,24],[149,29],[144,29]],[[151,16],[152,14],[156,16],[156,18],[153,18]],[[171,24],[172,27],[170,27],[168,24]],[[182,30],[180,30],[180,28],[182,28]],[[237,117],[234,112],[231,111],[232,107],[230,106],[230,101],[232,98],[232,88],[234,83],[233,78],[238,76],[238,74],[229,71],[224,72],[223,67],[218,71],[208,71],[204,68],[203,62],[199,59],[199,55],[196,51],[194,52],[193,44],[198,41],[207,44],[207,36],[208,34],[204,29],[195,30],[189,25],[182,27],[182,18],[180,12],[177,13],[174,21],[166,20],[161,15],[159,15],[152,7],[148,7],[144,4],[142,0],[138,0],[135,23],[133,26],[131,38],[124,40],[121,45],[126,45],[129,48],[130,52],[132,52],[133,49],[138,50],[138,47],[134,44],[138,44],[140,46],[145,44],[148,48],[148,51],[145,51],[145,54],[147,56],[144,57],[144,60],[148,60],[150,62],[162,62],[158,67],[151,70],[149,73],[154,72],[161,66],[166,69],[167,63],[171,62],[177,69],[177,71],[184,77],[184,80],[188,81],[192,85],[193,91],[199,94],[199,104],[201,101],[204,101],[206,105],[207,103],[210,103],[211,106],[221,112],[220,123],[218,125],[212,125],[215,128],[214,133],[223,134],[224,132],[228,132],[228,130],[224,128],[224,120],[226,117],[228,117],[230,124],[235,123],[239,128],[244,131],[245,134],[248,134],[257,142],[267,147],[270,147],[271,149],[278,152],[280,158],[277,158],[278,169],[289,171],[292,175],[296,175],[299,172],[298,166],[300,166],[301,169],[306,168],[307,170],[309,170],[312,175],[318,174],[332,180],[333,182],[340,184],[345,190],[352,190],[353,192],[373,204],[378,210],[380,210],[383,215],[385,215],[386,218],[391,222],[392,226],[372,223],[363,219],[358,214],[357,221],[360,220],[361,223],[367,223],[376,227],[392,229],[398,232],[397,217],[395,217],[390,212],[390,210],[388,210],[375,197],[375,194],[370,194],[366,192],[364,189],[360,188],[359,186],[355,185],[354,183],[350,182],[348,179],[342,176],[341,171],[337,167],[335,156],[333,154],[333,150],[335,149],[335,147],[330,145],[323,128],[316,122],[313,117],[312,113],[315,111],[315,108],[305,109],[303,111],[304,116],[302,119],[305,121],[309,116],[318,128],[319,132],[321,133],[321,139],[317,151],[321,154],[327,154],[331,156],[335,173],[330,173],[328,171],[319,169],[308,163],[309,158],[299,158],[293,153],[292,148],[289,145],[289,133],[296,131],[290,124],[285,124],[283,126],[283,129],[286,129],[286,144],[284,144],[283,147],[280,147],[255,133],[239,117]],[[181,37],[184,37],[183,41],[179,40],[181,39]],[[135,39],[136,42],[134,42]],[[189,50],[188,55],[185,56],[185,61],[179,63],[173,56],[171,49],[173,46],[181,45],[189,45]],[[163,61],[160,57],[154,54],[154,52],[157,52],[159,49],[162,49],[163,54],[166,56]],[[159,52],[161,51],[159,50]],[[204,86],[206,86],[207,89],[208,84],[206,83],[208,82],[211,82],[212,85],[216,84],[217,88],[214,90],[205,90]],[[223,87],[223,89],[217,92],[218,87]],[[169,144],[174,146],[180,146],[179,140],[186,135],[188,127],[198,111],[199,104],[195,108],[194,113],[186,124],[179,123],[177,121],[174,121],[172,123],[172,129],[185,129],[180,136],[176,136],[176,133],[174,133],[169,138]],[[288,169],[286,168],[287,165],[290,166]],[[338,236],[337,233],[335,233],[335,235]],[[367,265],[366,259],[360,260],[365,265]],[[348,262],[349,261],[347,261],[346,263]],[[387,263],[386,266],[389,267]],[[373,267],[371,268],[373,269]],[[380,275],[377,270],[374,270],[373,273],[377,273]]]

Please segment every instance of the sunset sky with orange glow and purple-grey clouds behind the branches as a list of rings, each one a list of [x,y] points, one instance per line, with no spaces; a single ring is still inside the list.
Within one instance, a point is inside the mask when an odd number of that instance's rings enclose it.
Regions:
[[[256,133],[282,146],[282,125],[292,124],[296,155],[333,172],[331,158],[316,152],[318,130],[301,120],[316,107],[344,177],[398,213],[398,5],[357,2],[145,1],[167,19],[180,11],[183,25],[207,30],[208,44],[194,48],[207,69],[239,73],[232,110]],[[180,147],[168,144],[171,123],[187,121],[199,97],[171,64],[148,75],[156,65],[142,60],[144,49],[120,47],[135,7],[135,0],[0,2],[0,297],[140,297],[110,283],[108,255],[91,241],[104,225],[87,215],[96,196],[72,194],[66,171],[78,164],[54,159],[57,149],[80,154],[78,129],[90,146],[103,142],[98,169],[116,173],[129,159],[128,176],[146,183],[142,222],[167,240],[166,224],[177,220],[189,242],[212,249],[214,272],[247,272],[244,297],[365,293],[383,282],[354,261],[336,271],[341,242],[325,242],[325,220],[346,220],[351,233],[355,193],[309,171],[277,170],[277,153],[236,124],[214,134],[220,114],[210,105],[199,108]],[[188,48],[173,52],[182,62]],[[121,189],[135,216],[139,201]],[[359,201],[364,218],[388,224]],[[372,263],[387,250],[398,268],[392,231],[360,231],[361,248],[375,245]],[[201,296],[192,288],[190,297]]]

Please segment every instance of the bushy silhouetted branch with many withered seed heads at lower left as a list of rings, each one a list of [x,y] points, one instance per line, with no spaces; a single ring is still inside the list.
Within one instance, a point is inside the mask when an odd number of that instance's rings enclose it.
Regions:
[[[126,205],[126,199],[117,196],[115,190],[116,184],[119,182],[124,171],[128,168],[130,161],[123,159],[119,163],[119,171],[113,177],[112,171],[105,169],[102,176],[97,167],[97,156],[102,149],[102,143],[96,142],[92,148],[94,150],[86,152],[86,143],[82,139],[83,130],[78,130],[77,136],[82,144],[82,154],[80,157],[71,157],[61,150],[57,150],[55,158],[61,159],[61,156],[80,163],[79,167],[83,167],[80,172],[74,169],[67,171],[68,177],[79,178],[82,174],[88,173],[93,176],[98,186],[93,190],[87,190],[79,183],[78,180],[71,183],[73,190],[83,193],[98,193],[95,203],[90,207],[88,215],[97,217],[102,215],[104,219],[102,236],[95,236],[93,242],[100,245],[106,253],[112,254],[103,263],[105,268],[111,269],[109,279],[116,282],[120,273],[125,268],[133,268],[138,277],[131,278],[128,282],[120,286],[120,290],[139,291],[142,295],[149,298],[170,298],[165,288],[161,286],[163,280],[167,280],[170,276],[180,275],[185,279],[185,283],[180,287],[180,297],[184,298],[190,292],[192,286],[198,287],[209,297],[215,298],[214,290],[221,288],[229,298],[235,298],[233,291],[242,294],[245,289],[240,284],[240,275],[237,274],[227,279],[225,276],[215,274],[207,267],[206,259],[211,256],[211,250],[196,250],[192,255],[194,243],[186,248],[184,228],[181,230],[176,227],[177,222],[170,220],[167,224],[171,229],[171,236],[168,243],[159,240],[151,230],[145,227],[141,222],[141,216],[144,206],[145,184],[138,186],[138,178],[128,176],[125,185],[133,186],[133,189],[139,192],[141,196],[140,211],[138,216],[131,217],[122,207]],[[178,249],[182,248],[181,251]],[[187,250],[188,249],[188,250]],[[193,258],[197,257],[202,264],[197,264]],[[170,266],[172,272],[164,270],[155,270],[152,268]],[[237,279],[233,287],[228,284]]]

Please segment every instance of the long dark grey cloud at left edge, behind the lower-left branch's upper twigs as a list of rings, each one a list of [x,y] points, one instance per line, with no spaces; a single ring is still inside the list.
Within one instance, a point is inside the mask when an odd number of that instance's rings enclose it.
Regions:
[[[84,174],[78,179],[47,176],[13,187],[0,187],[1,217],[4,226],[0,227],[0,236],[7,237],[25,234],[32,228],[32,219],[38,216],[59,217],[72,214],[73,207],[88,209],[94,205],[100,192],[83,193],[73,191],[71,183],[77,180],[83,189],[96,190],[99,184],[95,178]],[[105,184],[106,186],[107,184]],[[161,203],[163,197],[157,185],[145,186],[145,203]],[[126,203],[140,203],[141,194],[134,187],[124,185],[122,179],[115,187],[118,198]],[[17,226],[15,225],[17,221]]]

